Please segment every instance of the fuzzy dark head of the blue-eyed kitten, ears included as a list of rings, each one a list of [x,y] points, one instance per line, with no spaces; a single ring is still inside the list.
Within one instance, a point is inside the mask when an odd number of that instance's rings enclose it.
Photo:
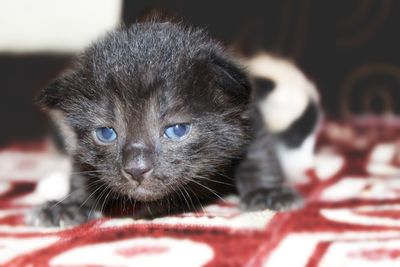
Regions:
[[[241,155],[249,95],[246,76],[202,31],[147,22],[94,44],[39,103],[78,167],[152,201]]]

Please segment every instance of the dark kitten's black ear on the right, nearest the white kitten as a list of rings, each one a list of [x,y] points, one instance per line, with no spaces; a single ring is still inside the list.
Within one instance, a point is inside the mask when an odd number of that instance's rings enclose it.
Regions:
[[[212,56],[212,69],[219,87],[232,96],[238,104],[250,100],[251,85],[245,72],[234,62],[218,55]]]

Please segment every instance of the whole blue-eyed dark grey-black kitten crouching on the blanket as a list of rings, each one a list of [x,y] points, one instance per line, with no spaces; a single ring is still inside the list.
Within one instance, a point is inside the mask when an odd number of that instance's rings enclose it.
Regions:
[[[249,209],[291,206],[298,196],[282,187],[250,91],[201,30],[144,22],[109,34],[39,96],[74,172],[71,195],[28,220],[68,226],[104,210],[148,217],[192,209],[228,191],[236,168]]]

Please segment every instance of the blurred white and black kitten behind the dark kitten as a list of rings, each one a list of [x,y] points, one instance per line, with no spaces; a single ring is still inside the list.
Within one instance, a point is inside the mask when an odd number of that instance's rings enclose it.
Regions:
[[[253,100],[265,127],[278,137],[277,154],[285,178],[308,182],[322,121],[316,86],[291,61],[268,53],[243,59],[253,82]]]

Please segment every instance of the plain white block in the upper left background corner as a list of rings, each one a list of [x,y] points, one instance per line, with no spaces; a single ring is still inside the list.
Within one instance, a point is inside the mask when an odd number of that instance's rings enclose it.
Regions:
[[[80,51],[120,23],[121,9],[121,0],[0,0],[0,51]]]

